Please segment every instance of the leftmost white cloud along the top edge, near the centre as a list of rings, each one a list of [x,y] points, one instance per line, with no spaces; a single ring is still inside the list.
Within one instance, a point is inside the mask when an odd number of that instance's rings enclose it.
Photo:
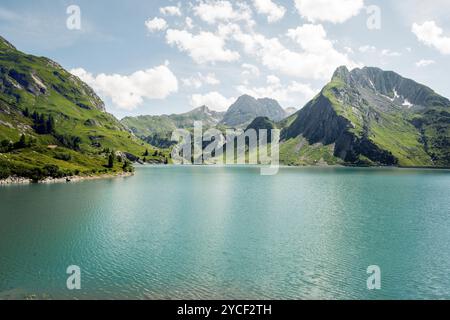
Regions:
[[[252,19],[250,7],[241,2],[238,2],[235,5],[237,8],[234,8],[230,1],[207,0],[201,1],[193,8],[193,10],[196,16],[209,24],[229,21],[246,21],[248,25],[254,25],[255,23]]]

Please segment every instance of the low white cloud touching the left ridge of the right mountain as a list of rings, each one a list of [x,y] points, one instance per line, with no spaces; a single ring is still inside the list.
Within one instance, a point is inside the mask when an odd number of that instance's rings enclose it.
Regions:
[[[288,85],[282,84],[280,78],[269,75],[266,78],[266,86],[248,87],[239,85],[236,89],[240,94],[248,94],[255,98],[272,98],[285,106],[302,106],[316,95],[316,90],[309,84],[292,81]]]

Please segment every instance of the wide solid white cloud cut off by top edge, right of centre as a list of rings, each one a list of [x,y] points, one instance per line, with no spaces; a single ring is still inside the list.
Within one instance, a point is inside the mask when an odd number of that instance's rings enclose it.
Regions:
[[[299,14],[309,22],[343,23],[359,14],[363,0],[295,0]]]

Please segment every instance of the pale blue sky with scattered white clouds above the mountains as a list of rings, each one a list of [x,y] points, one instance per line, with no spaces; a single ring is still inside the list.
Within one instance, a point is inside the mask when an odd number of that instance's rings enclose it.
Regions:
[[[70,5],[80,29],[67,28]],[[342,64],[450,97],[447,0],[2,0],[0,34],[71,70],[119,118],[224,110],[244,93],[299,109]]]

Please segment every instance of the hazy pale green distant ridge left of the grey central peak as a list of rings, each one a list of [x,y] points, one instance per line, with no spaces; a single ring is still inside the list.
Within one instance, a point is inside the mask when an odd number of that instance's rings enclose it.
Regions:
[[[202,106],[183,114],[126,117],[121,123],[152,145],[167,148],[173,144],[170,138],[174,130],[192,129],[195,121],[201,121],[204,128],[214,127],[222,121],[223,115],[223,112]]]

